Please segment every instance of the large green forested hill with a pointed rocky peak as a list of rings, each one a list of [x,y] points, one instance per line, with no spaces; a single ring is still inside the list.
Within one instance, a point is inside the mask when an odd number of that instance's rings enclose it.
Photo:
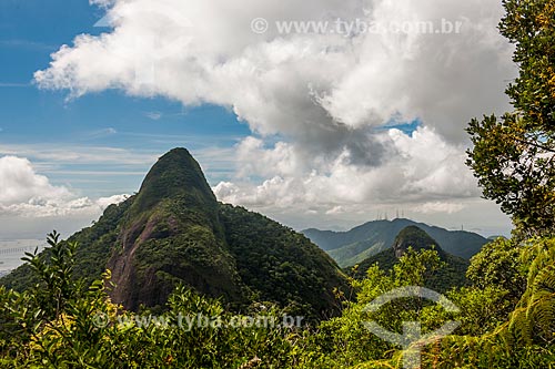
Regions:
[[[131,310],[162,306],[183,284],[236,310],[262,300],[322,316],[335,308],[332,289],[346,284],[303,235],[218,203],[185,148],[163,155],[137,195],[68,240],[80,244],[77,274],[91,281],[111,269],[111,298]],[[29,275],[21,266],[0,283],[22,290],[34,283]]]

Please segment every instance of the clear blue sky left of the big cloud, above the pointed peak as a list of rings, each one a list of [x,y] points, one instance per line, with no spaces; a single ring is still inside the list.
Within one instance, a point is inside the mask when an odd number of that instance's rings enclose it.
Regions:
[[[208,147],[232,147],[249,134],[246,124],[238,123],[225,107],[184,107],[180,102],[131,98],[114,90],[68,100],[67,91],[40,90],[33,73],[46,69],[50,54],[62,44],[71,45],[77,34],[107,31],[94,27],[102,17],[103,10],[87,0],[0,2],[0,154],[13,146],[24,147],[21,154],[32,150],[26,157],[52,184],[107,196],[138,188],[152,163],[52,163],[34,152],[109,146],[155,156],[186,146],[201,153]],[[231,171],[214,165],[209,180],[218,183]]]

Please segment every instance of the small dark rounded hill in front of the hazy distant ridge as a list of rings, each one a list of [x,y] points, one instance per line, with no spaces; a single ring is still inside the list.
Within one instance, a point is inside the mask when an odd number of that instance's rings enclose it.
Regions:
[[[392,269],[398,262],[398,258],[406,253],[408,247],[414,250],[435,249],[440,259],[444,263],[444,266],[430,278],[426,287],[437,291],[446,291],[451,287],[465,286],[467,284],[466,269],[468,268],[470,262],[446,253],[440,247],[435,239],[416,226],[403,228],[395,237],[392,247],[360,263],[353,273],[353,277],[357,279],[364,278],[366,270],[375,264],[377,264],[381,269]]]

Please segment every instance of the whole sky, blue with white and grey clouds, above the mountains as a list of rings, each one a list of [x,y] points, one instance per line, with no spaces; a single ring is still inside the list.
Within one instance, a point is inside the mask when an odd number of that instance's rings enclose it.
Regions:
[[[0,2],[0,239],[90,225],[176,146],[295,229],[509,233],[464,164],[511,109],[501,1],[46,3]]]

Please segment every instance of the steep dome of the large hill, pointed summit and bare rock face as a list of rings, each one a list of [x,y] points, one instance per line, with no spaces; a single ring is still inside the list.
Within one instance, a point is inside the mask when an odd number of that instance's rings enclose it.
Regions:
[[[184,148],[162,156],[147,175],[108,263],[112,299],[129,309],[162,305],[179,280],[210,296],[241,300],[235,262],[225,249],[219,204]]]

